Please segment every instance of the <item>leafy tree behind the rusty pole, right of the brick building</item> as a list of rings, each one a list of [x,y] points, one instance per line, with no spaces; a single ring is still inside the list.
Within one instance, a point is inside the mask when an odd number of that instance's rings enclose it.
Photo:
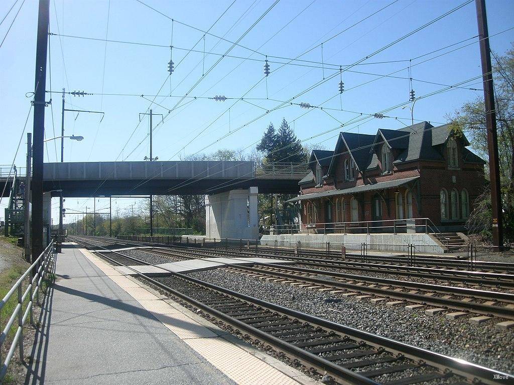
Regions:
[[[503,56],[493,53],[494,96],[498,132],[500,184],[503,205],[504,237],[514,241],[514,45]],[[465,103],[451,118],[451,130],[464,132],[473,150],[484,160],[489,159],[483,98]],[[489,167],[485,167],[488,178]],[[491,193],[489,185],[474,202],[467,222],[471,233],[490,238],[492,227]]]

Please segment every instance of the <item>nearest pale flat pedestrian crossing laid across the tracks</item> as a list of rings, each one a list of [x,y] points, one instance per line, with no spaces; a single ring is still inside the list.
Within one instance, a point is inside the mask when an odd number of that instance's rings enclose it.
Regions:
[[[209,270],[217,267],[224,267],[227,265],[242,265],[252,266],[255,263],[295,263],[283,259],[270,259],[260,257],[242,257],[242,258],[202,258],[202,259],[189,259],[185,261],[160,263],[155,266],[149,265],[134,265],[130,266],[139,273],[148,274],[149,276],[168,276],[173,273],[192,273],[203,270]],[[119,273],[123,275],[137,275],[136,272],[125,266],[114,267]]]

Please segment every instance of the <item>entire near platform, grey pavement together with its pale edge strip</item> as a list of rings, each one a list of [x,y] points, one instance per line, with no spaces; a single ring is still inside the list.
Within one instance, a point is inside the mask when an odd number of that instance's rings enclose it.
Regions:
[[[42,326],[31,352],[26,347],[33,357],[26,384],[315,383],[294,370],[285,375],[282,362],[264,362],[261,352],[78,247],[64,244],[58,255]]]

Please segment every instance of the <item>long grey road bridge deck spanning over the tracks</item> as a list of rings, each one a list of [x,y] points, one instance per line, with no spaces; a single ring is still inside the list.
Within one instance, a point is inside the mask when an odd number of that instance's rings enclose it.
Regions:
[[[44,164],[44,190],[64,197],[218,194],[258,187],[263,194],[296,194],[305,164],[264,168],[243,161],[65,162]],[[0,175],[0,185],[7,180]],[[9,196],[10,180],[4,197]],[[52,191],[52,196],[60,192]]]

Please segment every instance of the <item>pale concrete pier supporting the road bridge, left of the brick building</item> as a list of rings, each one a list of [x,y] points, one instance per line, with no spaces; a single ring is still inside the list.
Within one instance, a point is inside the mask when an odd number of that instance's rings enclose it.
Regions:
[[[258,187],[250,187],[206,196],[207,238],[258,239],[258,192]]]

